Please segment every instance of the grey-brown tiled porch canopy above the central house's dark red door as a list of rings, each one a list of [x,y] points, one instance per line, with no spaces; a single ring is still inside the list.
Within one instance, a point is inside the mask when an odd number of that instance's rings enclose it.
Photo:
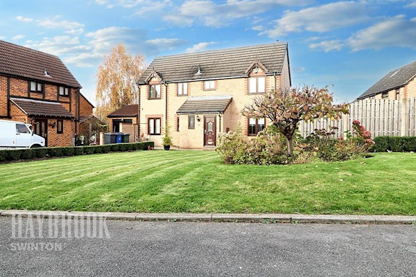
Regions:
[[[231,101],[231,95],[189,97],[176,114],[223,114]]]

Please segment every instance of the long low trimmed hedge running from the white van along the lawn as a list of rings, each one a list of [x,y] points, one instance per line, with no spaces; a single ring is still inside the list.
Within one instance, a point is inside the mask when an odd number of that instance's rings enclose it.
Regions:
[[[35,158],[42,159],[50,157],[70,157],[108,152],[126,152],[132,150],[148,150],[149,146],[153,148],[155,146],[155,143],[149,141],[144,143],[117,143],[93,146],[0,150],[0,162],[31,160]]]

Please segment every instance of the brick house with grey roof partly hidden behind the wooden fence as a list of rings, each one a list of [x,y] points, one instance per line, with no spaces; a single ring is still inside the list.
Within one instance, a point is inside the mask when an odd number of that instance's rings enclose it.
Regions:
[[[416,61],[390,71],[379,82],[367,89],[361,99],[403,100],[416,97]]]

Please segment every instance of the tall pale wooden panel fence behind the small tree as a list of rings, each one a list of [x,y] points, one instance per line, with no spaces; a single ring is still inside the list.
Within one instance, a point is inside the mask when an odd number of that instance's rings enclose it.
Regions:
[[[372,99],[354,101],[349,106],[349,114],[340,120],[321,118],[300,123],[300,133],[309,136],[315,129],[334,130],[336,137],[343,136],[352,129],[352,121],[358,120],[365,129],[376,136],[416,136],[416,98],[404,100]]]

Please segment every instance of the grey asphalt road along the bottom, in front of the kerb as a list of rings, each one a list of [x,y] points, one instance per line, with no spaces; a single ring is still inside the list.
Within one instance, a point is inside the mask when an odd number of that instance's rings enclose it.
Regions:
[[[33,238],[32,224],[12,238],[0,217],[0,276],[416,276],[414,225],[107,220],[110,238],[48,238],[46,224]]]

